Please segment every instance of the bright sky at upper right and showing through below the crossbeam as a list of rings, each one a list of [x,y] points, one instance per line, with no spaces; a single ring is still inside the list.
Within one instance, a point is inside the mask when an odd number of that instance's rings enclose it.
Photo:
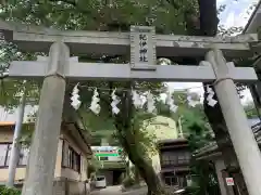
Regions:
[[[249,11],[249,8],[253,3],[258,3],[259,0],[217,0],[217,8],[222,4],[226,4],[224,12],[220,14],[220,24],[229,28],[232,26],[244,27],[246,26],[253,10]],[[175,89],[188,89],[189,91],[203,94],[203,89],[200,88],[200,82],[169,82],[170,90]],[[252,101],[249,90],[243,92],[244,99],[241,103],[248,103]]]

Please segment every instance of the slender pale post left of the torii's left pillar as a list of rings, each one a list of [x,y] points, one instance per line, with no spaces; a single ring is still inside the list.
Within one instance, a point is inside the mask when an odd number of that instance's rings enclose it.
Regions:
[[[26,99],[26,91],[23,92],[22,98],[20,100],[20,105],[17,107],[17,119],[15,121],[13,144],[12,144],[11,157],[9,162],[9,178],[7,182],[8,187],[14,186],[15,172],[16,172],[16,167],[20,158],[20,150],[21,150],[18,139],[21,135],[21,130],[22,130],[23,120],[24,120],[25,99]]]

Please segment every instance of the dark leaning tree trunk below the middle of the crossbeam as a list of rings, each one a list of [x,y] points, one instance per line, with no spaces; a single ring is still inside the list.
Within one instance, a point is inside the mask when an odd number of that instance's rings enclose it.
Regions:
[[[146,156],[140,153],[138,143],[135,139],[132,123],[132,96],[130,92],[123,92],[121,95],[121,114],[116,116],[115,127],[119,132],[121,145],[126,151],[129,160],[136,166],[140,177],[148,186],[148,192],[153,195],[165,194],[160,178],[157,176],[152,165],[147,160]]]

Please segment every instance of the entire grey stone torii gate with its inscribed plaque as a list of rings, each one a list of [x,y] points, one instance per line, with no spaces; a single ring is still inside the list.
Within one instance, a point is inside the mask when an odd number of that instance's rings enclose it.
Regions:
[[[66,79],[213,82],[250,195],[261,194],[261,154],[240,104],[234,81],[253,82],[253,68],[235,67],[225,56],[251,53],[256,35],[209,38],[156,35],[153,27],[133,26],[130,32],[60,31],[0,21],[7,40],[25,51],[49,50],[36,62],[12,62],[10,76],[44,78],[29,169],[23,195],[50,195]],[[127,54],[130,64],[79,63],[71,54]],[[198,65],[156,65],[157,56],[206,56]]]

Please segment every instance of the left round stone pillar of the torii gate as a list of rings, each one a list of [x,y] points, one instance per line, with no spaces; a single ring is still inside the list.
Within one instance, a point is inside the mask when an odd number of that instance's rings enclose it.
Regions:
[[[55,42],[51,46],[22,195],[52,194],[69,60],[66,44]]]

